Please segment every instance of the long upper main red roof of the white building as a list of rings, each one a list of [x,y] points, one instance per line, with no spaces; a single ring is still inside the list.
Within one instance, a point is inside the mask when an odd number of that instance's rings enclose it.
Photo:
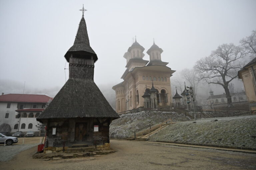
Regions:
[[[41,94],[4,94],[0,95],[0,102],[33,102],[47,103],[53,98]]]

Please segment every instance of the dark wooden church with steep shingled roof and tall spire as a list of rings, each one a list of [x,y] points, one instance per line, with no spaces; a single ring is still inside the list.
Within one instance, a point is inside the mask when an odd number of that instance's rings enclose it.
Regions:
[[[45,147],[104,145],[109,143],[111,121],[119,118],[94,83],[94,63],[98,57],[90,47],[84,8],[81,11],[74,45],[65,54],[69,79],[37,117],[47,126]]]

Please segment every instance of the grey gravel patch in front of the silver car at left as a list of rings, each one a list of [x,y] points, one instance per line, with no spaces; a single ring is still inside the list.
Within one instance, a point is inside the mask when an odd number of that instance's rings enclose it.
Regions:
[[[13,156],[18,153],[30,149],[38,144],[24,144],[24,145],[10,145],[10,146],[0,146],[0,162],[8,161],[13,158]]]

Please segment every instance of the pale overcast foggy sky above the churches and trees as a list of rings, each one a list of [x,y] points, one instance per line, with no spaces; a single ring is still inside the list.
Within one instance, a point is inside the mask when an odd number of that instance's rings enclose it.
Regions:
[[[90,45],[98,55],[97,85],[122,81],[123,55],[135,35],[145,60],[155,38],[164,51],[162,61],[179,71],[220,44],[239,45],[256,29],[255,0],[0,0],[0,85],[26,81],[36,88],[62,87],[64,55],[74,43],[83,4]]]

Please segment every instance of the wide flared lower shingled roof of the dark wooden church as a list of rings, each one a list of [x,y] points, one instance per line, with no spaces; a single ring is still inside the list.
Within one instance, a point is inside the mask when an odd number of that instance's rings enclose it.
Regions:
[[[119,118],[119,115],[93,80],[69,79],[37,120],[75,117]]]

